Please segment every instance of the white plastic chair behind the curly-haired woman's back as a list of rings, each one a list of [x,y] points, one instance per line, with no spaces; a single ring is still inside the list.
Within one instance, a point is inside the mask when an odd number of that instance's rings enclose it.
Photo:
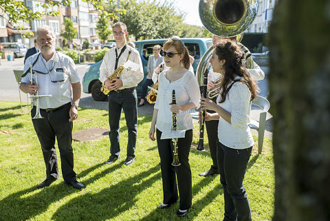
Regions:
[[[261,151],[263,151],[263,138],[265,136],[266,115],[270,109],[270,102],[262,96],[257,96],[257,98],[252,101],[252,105],[261,108],[259,122],[256,120],[251,120],[249,125],[251,129],[256,129],[258,131],[258,154],[261,154]]]

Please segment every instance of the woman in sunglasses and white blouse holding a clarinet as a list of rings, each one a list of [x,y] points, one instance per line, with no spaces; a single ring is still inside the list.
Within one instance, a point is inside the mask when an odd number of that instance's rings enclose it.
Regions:
[[[190,66],[188,50],[184,43],[176,38],[164,43],[164,62],[170,70],[159,74],[159,86],[153,120],[149,131],[151,140],[157,139],[160,165],[162,170],[164,199],[158,209],[166,209],[178,199],[178,216],[188,213],[192,202],[191,171],[188,162],[192,142],[192,118],[190,112],[199,107],[199,85],[195,75],[188,71]],[[176,104],[172,103],[175,90]],[[177,131],[172,131],[172,113],[177,114]],[[155,126],[157,130],[155,131]],[[155,137],[156,132],[156,137]],[[181,165],[174,167],[173,145],[171,138],[178,138],[178,154]]]

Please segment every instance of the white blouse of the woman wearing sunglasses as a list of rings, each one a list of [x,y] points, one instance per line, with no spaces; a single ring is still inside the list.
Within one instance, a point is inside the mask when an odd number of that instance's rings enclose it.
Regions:
[[[162,139],[183,138],[186,130],[193,129],[190,113],[195,112],[195,107],[185,112],[177,114],[177,131],[172,131],[172,112],[170,112],[170,103],[172,103],[172,91],[175,90],[177,104],[186,105],[190,102],[199,108],[199,85],[192,72],[187,71],[184,76],[177,81],[168,81],[164,71],[159,74],[159,85],[155,109],[158,109],[156,127],[162,131]]]

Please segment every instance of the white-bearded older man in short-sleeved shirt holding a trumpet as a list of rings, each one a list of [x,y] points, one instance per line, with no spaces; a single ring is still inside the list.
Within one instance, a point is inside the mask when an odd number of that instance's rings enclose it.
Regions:
[[[23,92],[31,95],[38,92],[40,96],[36,98],[38,101],[34,104],[31,115],[33,117],[36,112],[41,114],[39,118],[32,118],[32,123],[43,151],[47,178],[38,185],[38,189],[47,187],[58,179],[55,138],[60,150],[65,183],[76,189],[83,189],[85,185],[76,180],[72,149],[72,121],[78,116],[80,79],[74,61],[55,51],[55,37],[54,30],[49,25],[38,28],[36,39],[41,52],[26,59],[20,86]]]

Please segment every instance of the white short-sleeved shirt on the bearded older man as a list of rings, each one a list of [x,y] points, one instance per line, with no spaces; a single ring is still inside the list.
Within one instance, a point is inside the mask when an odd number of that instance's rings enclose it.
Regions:
[[[37,73],[35,75],[39,86],[38,94],[52,95],[39,98],[40,108],[56,108],[72,102],[70,83],[78,83],[80,81],[72,58],[61,52],[55,52],[52,59],[45,61],[43,56],[39,54],[40,53],[33,54],[26,59],[23,72],[25,73],[38,57],[38,61],[36,61],[32,70],[45,73]],[[48,72],[50,72],[50,74],[48,74]],[[28,72],[28,74],[22,78],[22,82],[30,83],[30,79],[31,74]]]

